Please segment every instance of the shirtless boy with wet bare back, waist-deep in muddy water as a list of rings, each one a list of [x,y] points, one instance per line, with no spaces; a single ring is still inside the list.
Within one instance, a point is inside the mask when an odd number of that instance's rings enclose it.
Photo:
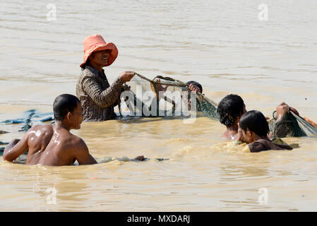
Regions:
[[[28,150],[27,165],[79,165],[97,163],[90,155],[83,139],[73,135],[71,129],[80,129],[83,109],[77,97],[63,94],[56,97],[54,124],[36,125],[25,133],[22,140],[15,139],[6,146],[4,160],[13,162]]]

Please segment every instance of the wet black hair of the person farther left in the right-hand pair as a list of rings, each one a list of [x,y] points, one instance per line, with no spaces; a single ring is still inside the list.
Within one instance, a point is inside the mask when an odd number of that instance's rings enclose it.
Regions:
[[[227,95],[219,102],[217,112],[221,124],[232,126],[244,114],[244,100],[239,95]]]

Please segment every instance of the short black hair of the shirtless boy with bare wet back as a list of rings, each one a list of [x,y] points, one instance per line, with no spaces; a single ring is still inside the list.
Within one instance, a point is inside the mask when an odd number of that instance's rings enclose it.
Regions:
[[[55,98],[53,104],[55,121],[63,121],[68,112],[73,113],[80,100],[71,94],[62,94]]]

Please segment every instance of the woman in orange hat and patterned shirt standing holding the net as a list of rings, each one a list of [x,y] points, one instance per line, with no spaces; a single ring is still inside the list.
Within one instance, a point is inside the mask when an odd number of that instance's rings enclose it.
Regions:
[[[126,71],[109,85],[102,67],[111,65],[118,56],[116,45],[105,42],[101,35],[90,35],[83,41],[82,71],[76,85],[76,95],[83,105],[84,121],[114,119],[114,107],[119,103],[122,85],[133,78]]]

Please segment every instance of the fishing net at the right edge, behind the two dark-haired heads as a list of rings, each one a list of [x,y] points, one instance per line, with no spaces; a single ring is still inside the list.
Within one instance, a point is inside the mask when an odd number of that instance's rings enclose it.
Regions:
[[[276,111],[273,112],[273,120],[270,129],[273,131],[273,138],[312,136],[317,137],[317,128],[312,126],[302,117],[294,112],[283,115],[280,121],[276,121]]]

